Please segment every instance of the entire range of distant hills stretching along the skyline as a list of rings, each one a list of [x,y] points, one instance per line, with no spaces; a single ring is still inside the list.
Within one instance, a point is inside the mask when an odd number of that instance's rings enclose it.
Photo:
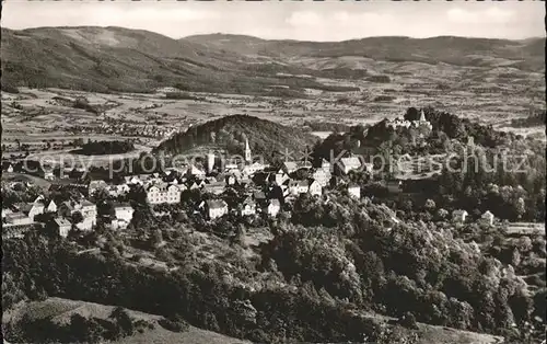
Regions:
[[[358,91],[318,78],[363,79],[374,61],[545,70],[545,38],[371,37],[267,41],[242,35],[173,39],[123,27],[1,28],[2,90],[183,91],[306,96],[306,89]],[[280,88],[282,87],[282,88]]]

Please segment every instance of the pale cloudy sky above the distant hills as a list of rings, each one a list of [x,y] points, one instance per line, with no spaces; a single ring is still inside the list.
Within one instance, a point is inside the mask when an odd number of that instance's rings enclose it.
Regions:
[[[370,36],[545,37],[543,1],[27,1],[5,0],[1,26],[123,26],[173,38],[226,33],[268,39]]]

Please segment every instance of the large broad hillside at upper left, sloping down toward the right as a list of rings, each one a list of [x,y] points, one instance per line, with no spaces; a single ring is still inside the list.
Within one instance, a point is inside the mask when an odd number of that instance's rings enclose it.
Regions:
[[[277,77],[305,69],[263,67],[235,51],[141,30],[2,28],[1,43],[4,87],[152,92],[177,85],[189,91],[275,94],[272,85],[284,85],[286,94],[299,96],[303,88],[325,88],[313,80]]]

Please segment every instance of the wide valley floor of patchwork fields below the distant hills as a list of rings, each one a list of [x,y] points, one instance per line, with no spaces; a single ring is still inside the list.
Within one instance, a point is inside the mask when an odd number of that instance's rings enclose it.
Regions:
[[[196,100],[170,100],[161,90],[152,94],[103,94],[55,88],[21,88],[19,94],[2,92],[2,144],[10,146],[19,140],[21,144],[36,145],[45,139],[62,141],[78,138],[110,140],[119,138],[119,135],[100,133],[97,128],[115,128],[123,124],[132,127],[154,126],[174,133],[233,114],[248,114],[296,127],[303,126],[306,121],[371,124],[401,116],[409,106],[433,106],[492,125],[497,129],[545,139],[545,129],[540,126],[513,128],[510,124],[512,119],[544,110],[545,84],[544,76],[539,72],[510,67],[484,68],[412,61],[341,61],[386,78],[382,82],[371,78],[317,78],[324,84],[351,85],[359,88],[359,91],[314,90],[307,92],[305,99],[191,92],[189,94]],[[291,62],[311,69],[327,68],[329,64],[340,67],[341,64],[340,60],[327,62],[321,58],[300,58]],[[500,92],[503,96],[500,96]],[[59,103],[59,98],[85,98],[90,104],[100,105],[105,111],[95,114],[73,108]],[[142,135],[124,135],[124,138],[154,146],[167,136],[160,135],[152,139]]]

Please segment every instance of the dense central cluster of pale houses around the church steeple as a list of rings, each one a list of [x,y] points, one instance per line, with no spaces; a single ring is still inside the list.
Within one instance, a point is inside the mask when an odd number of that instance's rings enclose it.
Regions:
[[[331,165],[325,160],[317,168],[306,161],[286,161],[278,169],[254,162],[248,141],[245,145],[244,160],[241,165],[228,163],[219,171],[216,169],[214,154],[208,154],[206,170],[190,164],[166,169],[162,173],[125,176],[124,182],[118,185],[92,181],[89,184],[89,194],[93,195],[103,190],[114,197],[124,196],[131,186],[140,185],[146,192],[147,203],[156,206],[179,204],[184,192],[199,190],[212,197],[196,204],[196,211],[202,213],[209,219],[222,217],[230,211],[240,216],[265,214],[275,217],[286,202],[291,202],[301,194],[322,196],[324,188],[333,181]],[[362,168],[361,161],[356,157],[342,158],[340,164],[345,173]],[[305,177],[295,176],[294,173],[300,170],[305,170]],[[229,186],[241,186],[246,195],[244,200],[232,209],[221,199]],[[347,190],[351,196],[361,198],[359,185],[349,184]]]

